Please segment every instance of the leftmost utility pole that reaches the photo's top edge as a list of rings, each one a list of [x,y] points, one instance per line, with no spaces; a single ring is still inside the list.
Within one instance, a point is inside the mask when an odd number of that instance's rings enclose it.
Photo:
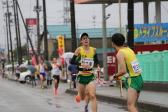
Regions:
[[[10,28],[10,14],[9,14],[9,6],[7,0],[7,13],[8,13],[8,25],[9,25],[9,36],[10,36],[10,48],[11,48],[11,60],[12,60],[12,72],[14,72],[14,64],[13,64],[13,49],[12,49],[12,36],[11,36],[11,28]]]

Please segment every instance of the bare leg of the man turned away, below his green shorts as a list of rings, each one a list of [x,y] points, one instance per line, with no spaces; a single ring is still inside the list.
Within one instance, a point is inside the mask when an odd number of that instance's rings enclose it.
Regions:
[[[138,112],[136,108],[137,99],[138,99],[137,90],[133,89],[132,87],[129,87],[127,93],[127,108],[130,112]]]

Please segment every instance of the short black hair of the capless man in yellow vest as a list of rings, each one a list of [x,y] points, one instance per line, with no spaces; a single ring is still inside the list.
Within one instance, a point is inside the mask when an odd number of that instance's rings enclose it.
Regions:
[[[125,42],[125,37],[123,34],[121,33],[115,33],[112,37],[111,37],[111,41],[117,45],[117,46],[123,46],[124,42]]]

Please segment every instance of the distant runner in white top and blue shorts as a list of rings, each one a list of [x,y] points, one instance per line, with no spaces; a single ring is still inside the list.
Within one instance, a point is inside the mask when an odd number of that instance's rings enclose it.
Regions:
[[[44,81],[46,80],[45,76],[45,69],[47,69],[46,64],[44,63],[44,60],[40,60],[39,64],[39,72],[40,72],[40,80],[41,80],[41,89],[44,89]]]

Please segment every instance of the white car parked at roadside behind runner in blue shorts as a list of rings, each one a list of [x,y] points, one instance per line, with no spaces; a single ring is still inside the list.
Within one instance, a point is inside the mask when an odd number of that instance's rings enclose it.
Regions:
[[[21,72],[19,81],[29,83],[31,81],[31,71],[27,70],[26,68],[20,68],[20,69]]]

